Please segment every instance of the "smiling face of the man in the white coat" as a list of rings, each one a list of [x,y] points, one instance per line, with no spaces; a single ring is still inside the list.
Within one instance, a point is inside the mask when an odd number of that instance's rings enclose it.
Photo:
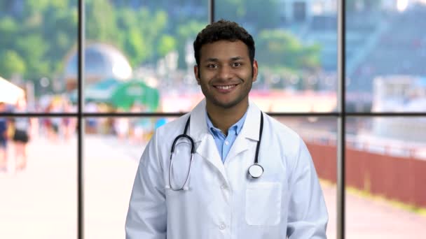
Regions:
[[[202,46],[200,65],[195,66],[194,73],[207,106],[228,109],[248,106],[257,70],[257,62],[250,62],[245,43],[217,41]]]

